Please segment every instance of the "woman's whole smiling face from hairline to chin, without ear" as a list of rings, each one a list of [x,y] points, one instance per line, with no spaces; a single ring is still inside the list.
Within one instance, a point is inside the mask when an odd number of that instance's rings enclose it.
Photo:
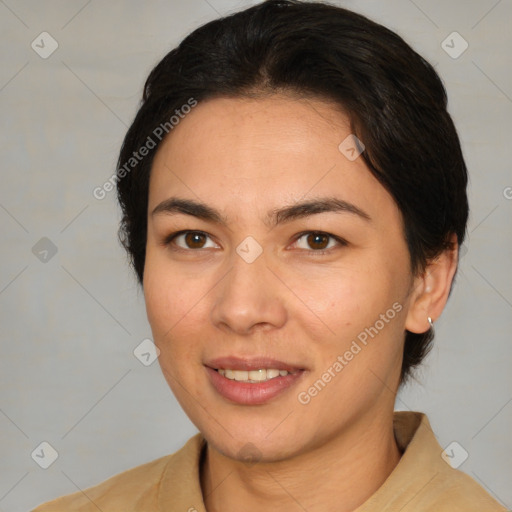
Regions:
[[[319,100],[213,99],[155,156],[148,319],[172,391],[228,457],[290,458],[393,409],[409,253],[392,197],[351,139],[339,149],[350,134]]]

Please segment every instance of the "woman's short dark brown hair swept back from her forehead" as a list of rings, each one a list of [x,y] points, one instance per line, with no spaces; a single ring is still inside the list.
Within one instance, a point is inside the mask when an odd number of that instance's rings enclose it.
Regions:
[[[119,237],[141,284],[149,178],[163,140],[155,128],[170,133],[169,119],[190,98],[275,93],[327,100],[347,113],[365,146],[362,158],[401,211],[413,275],[452,248],[453,234],[463,243],[467,169],[433,67],[396,33],[362,15],[327,3],[267,0],[197,28],[147,78],[117,167]],[[156,149],[126,172],[148,137],[157,139]],[[401,384],[433,337],[432,329],[405,332]]]

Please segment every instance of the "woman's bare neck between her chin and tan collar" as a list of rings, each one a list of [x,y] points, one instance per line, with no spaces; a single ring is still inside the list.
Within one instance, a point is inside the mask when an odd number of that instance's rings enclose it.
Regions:
[[[208,512],[260,512],[290,505],[308,512],[352,512],[400,460],[393,411],[367,418],[293,459],[247,465],[208,444],[201,486]],[[298,510],[298,509],[297,509]]]

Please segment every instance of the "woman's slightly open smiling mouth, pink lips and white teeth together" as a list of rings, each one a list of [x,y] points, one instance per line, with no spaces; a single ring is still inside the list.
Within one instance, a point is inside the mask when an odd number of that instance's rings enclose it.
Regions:
[[[229,402],[261,405],[295,385],[306,369],[269,358],[224,357],[205,368],[214,390]]]

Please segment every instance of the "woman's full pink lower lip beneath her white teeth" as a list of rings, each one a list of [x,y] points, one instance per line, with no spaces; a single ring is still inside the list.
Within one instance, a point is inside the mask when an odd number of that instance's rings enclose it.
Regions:
[[[290,389],[304,373],[301,370],[297,373],[274,377],[265,382],[250,383],[231,380],[208,366],[205,368],[210,382],[220,395],[232,402],[243,405],[261,405],[269,402]]]

